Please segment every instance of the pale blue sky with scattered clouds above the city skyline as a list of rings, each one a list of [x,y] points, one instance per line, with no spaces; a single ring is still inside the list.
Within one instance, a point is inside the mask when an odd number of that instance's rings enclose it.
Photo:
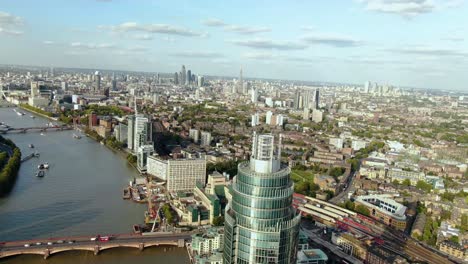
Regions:
[[[468,0],[0,0],[0,64],[468,91]]]

